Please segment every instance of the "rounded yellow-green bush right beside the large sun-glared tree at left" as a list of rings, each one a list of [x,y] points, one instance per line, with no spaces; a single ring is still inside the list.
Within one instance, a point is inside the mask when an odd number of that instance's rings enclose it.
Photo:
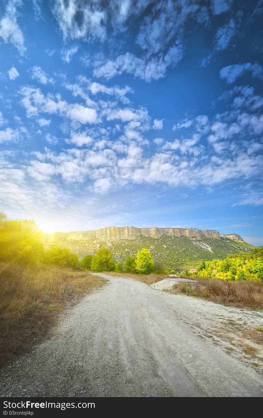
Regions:
[[[77,254],[69,252],[67,248],[59,247],[54,247],[51,250],[46,251],[43,255],[43,263],[71,268],[79,268],[80,266]]]

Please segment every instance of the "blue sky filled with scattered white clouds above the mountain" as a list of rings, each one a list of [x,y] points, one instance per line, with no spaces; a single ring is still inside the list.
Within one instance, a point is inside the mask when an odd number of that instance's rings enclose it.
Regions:
[[[0,2],[0,210],[263,245],[263,0]]]

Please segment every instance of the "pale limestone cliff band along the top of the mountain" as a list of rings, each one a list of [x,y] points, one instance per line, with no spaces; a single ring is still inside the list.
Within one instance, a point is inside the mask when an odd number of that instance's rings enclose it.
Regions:
[[[137,228],[137,227],[107,227],[97,229],[95,231],[79,231],[79,232],[52,232],[51,234],[43,233],[43,242],[65,242],[71,240],[120,240],[126,238],[135,240],[143,235],[145,237],[158,238],[163,236],[188,237],[188,238],[217,238],[218,240],[230,239],[243,241],[238,234],[222,235],[218,231],[210,229],[195,228]]]

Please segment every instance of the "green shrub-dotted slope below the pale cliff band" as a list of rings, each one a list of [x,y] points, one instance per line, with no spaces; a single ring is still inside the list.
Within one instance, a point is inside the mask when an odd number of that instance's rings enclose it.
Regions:
[[[240,237],[241,238],[241,237]],[[45,247],[58,245],[69,248],[80,258],[94,254],[99,248],[110,249],[116,262],[123,263],[128,255],[135,256],[142,248],[149,248],[153,260],[169,265],[175,271],[197,267],[202,260],[224,259],[230,254],[241,251],[251,252],[254,246],[240,240],[229,239],[226,236],[218,238],[188,238],[186,236],[167,236],[158,238],[146,237],[140,234],[135,239],[100,239],[100,240],[66,240],[61,242],[46,242]]]

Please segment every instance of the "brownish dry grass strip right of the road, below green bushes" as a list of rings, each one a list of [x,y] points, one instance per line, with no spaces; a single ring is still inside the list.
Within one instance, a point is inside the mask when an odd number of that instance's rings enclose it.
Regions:
[[[228,303],[249,308],[263,308],[263,283],[253,281],[226,282],[217,279],[197,279],[194,286],[177,285],[171,293],[199,296],[210,301]]]

